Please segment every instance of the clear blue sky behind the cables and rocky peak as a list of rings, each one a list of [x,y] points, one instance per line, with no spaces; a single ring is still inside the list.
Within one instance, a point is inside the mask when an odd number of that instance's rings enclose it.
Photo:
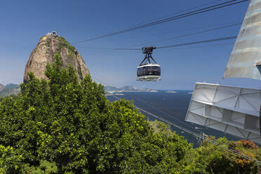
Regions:
[[[30,53],[40,37],[52,30],[64,36],[70,43],[74,43],[121,29],[128,29],[139,23],[152,22],[162,16],[171,16],[178,11],[212,1],[1,1],[0,83],[22,82],[25,64]],[[225,1],[220,0],[219,2]],[[248,4],[249,1],[217,11],[73,45],[81,53],[91,75],[114,86],[134,85],[175,90],[192,89],[196,81],[206,81],[258,88],[261,86],[261,82],[257,80],[222,79],[235,40],[155,50],[153,57],[162,69],[162,80],[157,82],[135,80],[136,68],[143,58],[141,51],[97,49],[141,48],[147,42],[199,32],[217,27],[220,24],[242,22]],[[198,27],[202,28],[194,29]],[[236,36],[239,29],[240,25],[168,41],[149,43],[147,46],[168,46]],[[201,47],[215,44],[225,45]]]

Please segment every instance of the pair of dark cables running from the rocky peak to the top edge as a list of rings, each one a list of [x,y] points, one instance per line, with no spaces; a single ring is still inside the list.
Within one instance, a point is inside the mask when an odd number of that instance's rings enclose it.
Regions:
[[[83,43],[83,42],[86,42],[86,41],[93,41],[93,40],[96,40],[96,39],[102,39],[102,38],[105,38],[105,37],[108,37],[108,36],[114,36],[114,35],[117,35],[117,34],[122,34],[122,33],[125,33],[125,32],[131,32],[133,30],[137,30],[137,29],[142,29],[142,28],[145,28],[145,27],[150,27],[152,25],[159,25],[163,22],[169,22],[169,21],[172,21],[172,20],[178,20],[180,18],[186,18],[186,17],[189,17],[189,16],[192,16],[192,15],[197,15],[197,14],[200,14],[200,13],[205,13],[205,12],[208,12],[208,11],[213,11],[213,10],[216,10],[216,9],[219,9],[219,8],[225,8],[227,6],[232,6],[234,4],[240,4],[240,3],[243,3],[245,1],[248,1],[248,0],[241,0],[241,1],[238,1],[238,0],[232,0],[232,1],[227,1],[227,2],[224,2],[224,3],[221,3],[221,4],[216,4],[214,6],[208,6],[206,8],[201,8],[199,10],[196,10],[196,11],[192,11],[192,12],[188,12],[188,13],[184,13],[184,14],[181,14],[181,15],[175,15],[173,17],[170,17],[170,18],[165,18],[163,20],[156,20],[155,22],[149,22],[145,25],[140,25],[140,26],[137,26],[137,27],[132,27],[130,29],[123,29],[119,32],[113,32],[113,33],[110,33],[110,34],[105,34],[105,35],[102,35],[102,36],[98,36],[98,37],[95,37],[95,38],[92,38],[92,39],[86,39],[86,40],[83,40],[83,41],[76,41],[74,42],[73,44],[79,44],[79,43]]]

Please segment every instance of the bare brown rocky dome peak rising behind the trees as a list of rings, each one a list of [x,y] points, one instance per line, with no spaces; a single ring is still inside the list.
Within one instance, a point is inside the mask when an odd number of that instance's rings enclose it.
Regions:
[[[79,52],[66,41],[62,36],[58,36],[55,32],[42,36],[36,48],[32,51],[27,65],[25,66],[24,83],[29,81],[29,72],[33,72],[39,79],[48,79],[44,72],[46,71],[46,64],[52,64],[55,60],[53,55],[60,53],[62,58],[62,67],[69,67],[69,64],[74,67],[78,79],[81,80],[90,74],[83,58]]]

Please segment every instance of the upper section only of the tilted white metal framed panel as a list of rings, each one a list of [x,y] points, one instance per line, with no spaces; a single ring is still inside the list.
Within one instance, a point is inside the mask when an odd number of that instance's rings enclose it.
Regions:
[[[261,91],[257,89],[221,86],[210,83],[196,83],[192,100],[208,102],[236,112],[249,113],[259,116],[261,105]]]

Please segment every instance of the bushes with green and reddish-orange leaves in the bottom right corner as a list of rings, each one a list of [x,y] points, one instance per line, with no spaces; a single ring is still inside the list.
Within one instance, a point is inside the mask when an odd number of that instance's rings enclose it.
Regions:
[[[241,154],[246,154],[254,159],[260,159],[260,148],[253,142],[240,140],[233,142],[227,138],[208,137],[207,140],[216,142],[218,145],[227,149],[236,150]],[[182,161],[185,166],[186,173],[260,173],[260,166],[253,161],[243,159],[232,152],[217,147],[208,141],[204,141],[201,147],[189,149]]]

